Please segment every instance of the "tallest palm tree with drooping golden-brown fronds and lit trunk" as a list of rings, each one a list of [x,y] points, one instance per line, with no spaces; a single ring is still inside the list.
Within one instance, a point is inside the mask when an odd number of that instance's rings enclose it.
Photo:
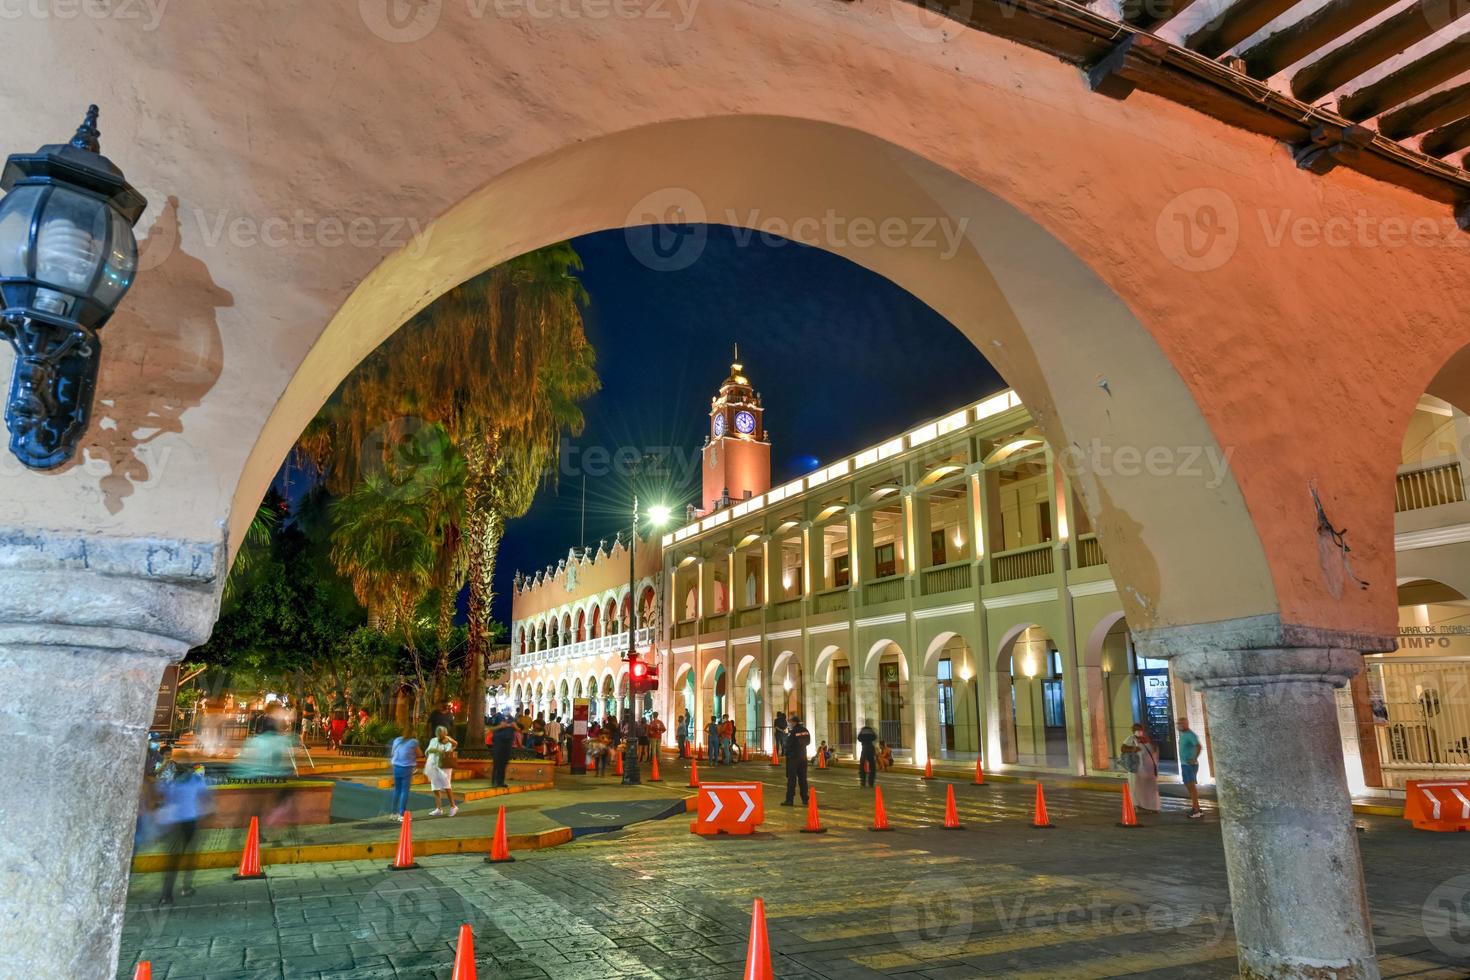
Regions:
[[[357,367],[300,444],[334,494],[351,492],[362,473],[391,467],[394,445],[416,420],[442,428],[457,447],[465,507],[457,522],[437,523],[437,530],[425,525],[425,533],[454,552],[440,555],[440,582],[469,574],[473,742],[484,735],[481,664],[504,523],[529,508],[551,473],[562,432],[581,430],[578,403],[600,386],[582,323],[579,269],[576,251],[563,242],[450,289]],[[450,526],[459,533],[444,533]],[[442,611],[442,592],[440,601]]]

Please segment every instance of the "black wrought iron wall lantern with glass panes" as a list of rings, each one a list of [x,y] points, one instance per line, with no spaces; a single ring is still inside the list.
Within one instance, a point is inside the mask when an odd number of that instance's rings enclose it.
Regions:
[[[15,348],[10,451],[49,470],[87,429],[97,331],[138,269],[132,226],[148,201],[101,156],[97,106],[66,144],[13,153],[0,173],[0,335]]]

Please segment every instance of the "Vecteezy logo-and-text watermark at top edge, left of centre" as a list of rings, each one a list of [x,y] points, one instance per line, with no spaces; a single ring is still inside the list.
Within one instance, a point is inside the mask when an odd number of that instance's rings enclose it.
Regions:
[[[373,35],[412,44],[434,32],[448,3],[473,21],[666,21],[685,31],[701,0],[357,0],[357,12]]]

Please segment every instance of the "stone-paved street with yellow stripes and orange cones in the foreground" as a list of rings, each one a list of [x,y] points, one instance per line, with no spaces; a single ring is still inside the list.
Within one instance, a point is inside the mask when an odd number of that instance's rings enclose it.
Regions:
[[[701,774],[776,779],[764,765]],[[263,882],[201,871],[171,908],[156,904],[159,876],[140,874],[118,976],[143,954],[169,980],[448,977],[467,921],[481,977],[738,977],[757,895],[776,976],[791,980],[1235,974],[1213,811],[1189,821],[1166,799],[1148,826],[1120,830],[1116,795],[1054,790],[1057,829],[1035,830],[1030,786],[957,783],[966,829],[945,832],[944,783],[889,776],[897,830],[870,833],[870,790],[851,770],[813,785],[826,835],[797,833],[804,811],[767,785],[767,823],[747,839],[697,837],[676,817],[503,865],[303,864]],[[1470,976],[1470,839],[1358,824],[1385,976]]]

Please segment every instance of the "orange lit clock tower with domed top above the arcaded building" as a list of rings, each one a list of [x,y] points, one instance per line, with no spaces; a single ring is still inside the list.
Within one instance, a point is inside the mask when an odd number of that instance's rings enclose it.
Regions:
[[[770,489],[770,438],[760,394],[750,386],[739,345],[720,394],[710,400],[710,435],[704,442],[706,514]]]

